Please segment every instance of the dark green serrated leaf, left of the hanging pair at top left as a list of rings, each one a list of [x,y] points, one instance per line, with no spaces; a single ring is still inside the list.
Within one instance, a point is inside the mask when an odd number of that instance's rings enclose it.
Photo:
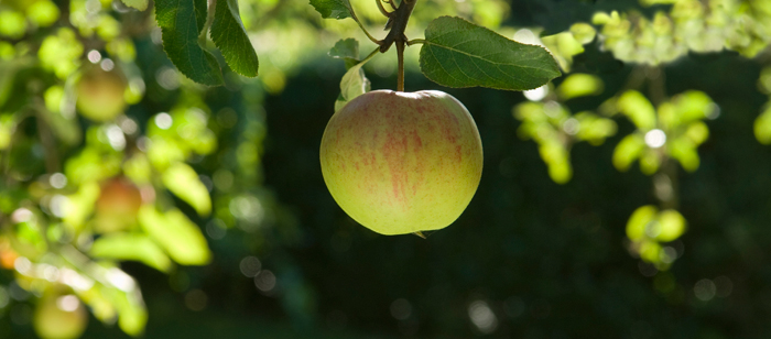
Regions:
[[[163,50],[182,74],[204,85],[222,84],[217,59],[198,45],[206,0],[158,0],[155,20],[163,33]]]

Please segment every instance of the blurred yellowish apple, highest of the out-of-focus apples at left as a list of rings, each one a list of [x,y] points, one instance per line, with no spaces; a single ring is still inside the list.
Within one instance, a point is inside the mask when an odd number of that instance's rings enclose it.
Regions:
[[[77,83],[77,109],[82,116],[97,121],[110,121],[126,110],[126,79],[116,69],[87,69]]]

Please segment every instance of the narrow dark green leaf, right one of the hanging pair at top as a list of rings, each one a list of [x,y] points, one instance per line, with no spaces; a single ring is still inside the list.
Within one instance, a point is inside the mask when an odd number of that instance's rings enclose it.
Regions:
[[[217,2],[211,40],[232,70],[246,77],[257,76],[259,61],[238,14],[238,0]]]

